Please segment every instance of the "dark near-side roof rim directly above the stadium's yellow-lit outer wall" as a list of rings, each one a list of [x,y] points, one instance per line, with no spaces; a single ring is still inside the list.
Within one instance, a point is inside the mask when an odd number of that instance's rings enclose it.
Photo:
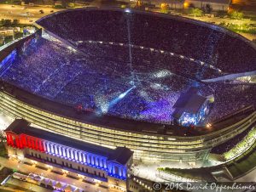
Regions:
[[[253,107],[249,107],[245,110],[241,110],[239,113],[236,112],[236,121],[232,120],[232,123],[230,119],[233,119],[232,116],[234,114],[229,115],[223,121],[217,121],[216,126],[214,126],[214,124],[212,123],[211,129],[208,129],[207,127],[196,127],[189,130],[188,133],[188,127],[180,127],[177,125],[164,125],[148,121],[123,119],[117,116],[98,116],[95,113],[89,111],[84,112],[84,114],[78,114],[72,106],[59,104],[49,99],[37,96],[33,93],[29,93],[26,90],[9,84],[8,82],[3,82],[1,79],[0,91],[9,94],[11,97],[18,99],[25,104],[32,105],[38,110],[44,110],[46,112],[54,114],[55,116],[62,116],[74,121],[80,121],[82,123],[88,123],[97,127],[104,127],[113,130],[129,131],[131,133],[150,133],[150,135],[152,136],[168,136],[173,138],[201,138],[202,136],[206,136],[219,130],[229,128],[233,124],[242,121],[247,116],[251,116],[252,114],[256,113]],[[145,129],[147,131],[145,131]],[[166,130],[166,133],[158,133],[159,130],[163,129]]]

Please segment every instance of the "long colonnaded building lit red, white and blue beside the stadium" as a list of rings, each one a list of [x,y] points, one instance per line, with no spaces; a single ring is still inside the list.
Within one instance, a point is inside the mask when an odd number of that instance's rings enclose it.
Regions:
[[[108,186],[126,189],[127,170],[132,163],[131,150],[115,150],[84,143],[55,133],[30,127],[29,122],[17,119],[6,130],[8,151],[21,161],[38,161],[53,167],[68,168]]]

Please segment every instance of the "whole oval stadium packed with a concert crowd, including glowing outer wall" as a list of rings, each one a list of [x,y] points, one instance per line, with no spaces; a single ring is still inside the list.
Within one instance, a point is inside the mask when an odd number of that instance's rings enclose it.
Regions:
[[[207,160],[255,125],[256,48],[236,33],[115,8],[62,11],[37,25],[2,51],[6,116],[158,161]]]

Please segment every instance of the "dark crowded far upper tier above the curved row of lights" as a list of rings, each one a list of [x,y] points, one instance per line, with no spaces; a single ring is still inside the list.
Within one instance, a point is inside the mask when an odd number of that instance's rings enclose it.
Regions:
[[[224,73],[256,70],[255,49],[246,42],[223,30],[184,20],[155,14],[80,9],[55,14],[38,24],[72,42],[121,42],[171,51],[214,65]]]

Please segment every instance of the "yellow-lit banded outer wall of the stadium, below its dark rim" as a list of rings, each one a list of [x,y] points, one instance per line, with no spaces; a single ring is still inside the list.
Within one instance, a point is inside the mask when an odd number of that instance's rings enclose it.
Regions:
[[[9,93],[0,92],[0,110],[13,118],[24,118],[38,127],[68,137],[109,148],[126,146],[136,159],[151,161],[204,161],[212,147],[222,144],[256,121],[256,111],[230,127],[195,137],[179,137],[154,133],[135,133],[95,126],[76,119],[41,110]]]

